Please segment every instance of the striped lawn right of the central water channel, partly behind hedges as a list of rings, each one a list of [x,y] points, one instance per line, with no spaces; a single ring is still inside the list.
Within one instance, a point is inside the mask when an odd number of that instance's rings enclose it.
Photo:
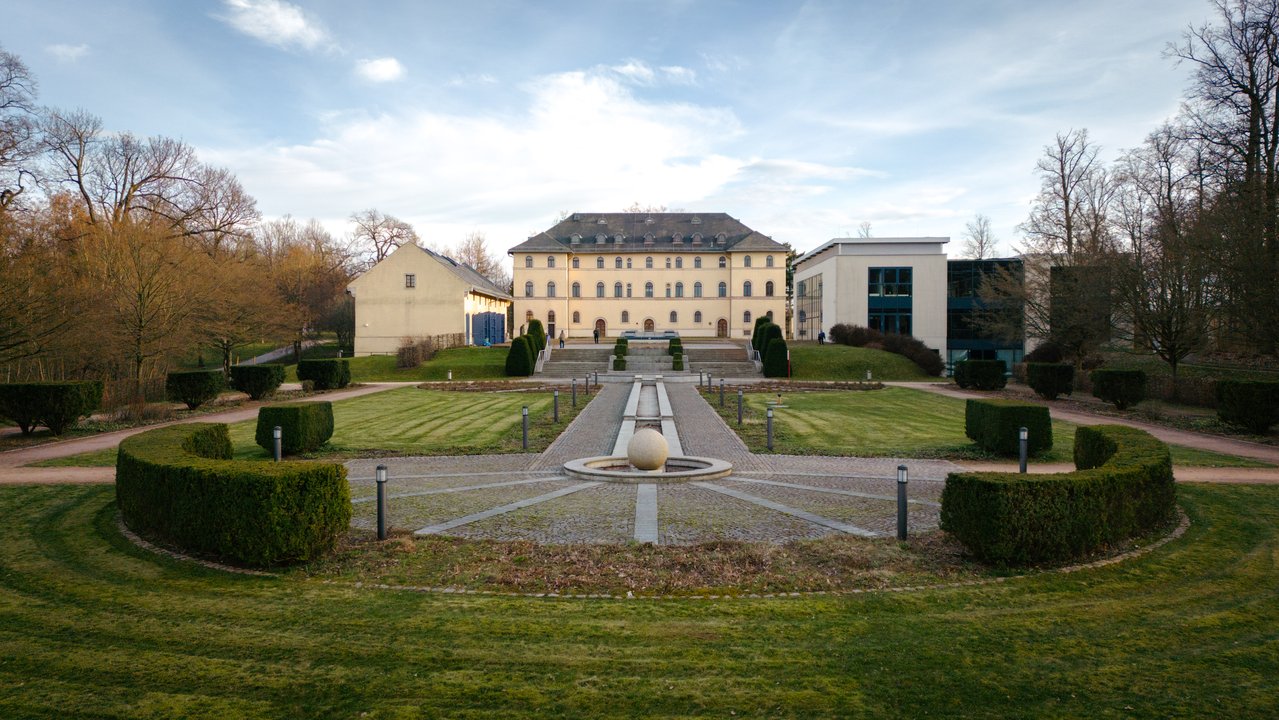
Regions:
[[[752,451],[767,451],[766,409],[776,395],[747,393],[744,425],[737,425],[735,399],[720,412]],[[964,400],[907,387],[866,391],[783,393],[774,412],[774,451],[796,455],[904,458],[989,458],[964,435]],[[1037,462],[1071,462],[1076,426],[1053,421],[1053,449]],[[1170,446],[1173,462],[1201,467],[1267,467],[1265,463],[1205,450]]]

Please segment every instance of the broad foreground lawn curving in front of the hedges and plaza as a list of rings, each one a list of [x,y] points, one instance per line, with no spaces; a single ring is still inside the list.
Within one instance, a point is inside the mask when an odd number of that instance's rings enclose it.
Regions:
[[[1104,568],[656,601],[223,574],[110,487],[3,487],[0,716],[1279,716],[1279,487],[1178,490],[1187,535]]]

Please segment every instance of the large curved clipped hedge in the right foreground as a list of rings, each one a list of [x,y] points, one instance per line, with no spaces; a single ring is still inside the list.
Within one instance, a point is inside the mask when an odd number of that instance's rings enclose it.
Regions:
[[[1074,434],[1076,471],[950,473],[941,529],[998,565],[1078,559],[1170,523],[1177,494],[1168,446],[1133,427]]]

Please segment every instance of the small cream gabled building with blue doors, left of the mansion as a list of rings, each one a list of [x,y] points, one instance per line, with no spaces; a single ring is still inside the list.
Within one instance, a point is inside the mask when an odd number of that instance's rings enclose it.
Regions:
[[[471,266],[403,244],[347,285],[356,298],[356,356],[395,353],[404,339],[506,340],[510,295]]]

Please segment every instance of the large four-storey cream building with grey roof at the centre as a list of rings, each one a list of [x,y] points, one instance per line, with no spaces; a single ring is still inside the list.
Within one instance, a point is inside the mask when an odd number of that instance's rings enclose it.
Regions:
[[[787,247],[724,212],[576,212],[509,254],[515,325],[550,336],[749,338],[785,317]]]

